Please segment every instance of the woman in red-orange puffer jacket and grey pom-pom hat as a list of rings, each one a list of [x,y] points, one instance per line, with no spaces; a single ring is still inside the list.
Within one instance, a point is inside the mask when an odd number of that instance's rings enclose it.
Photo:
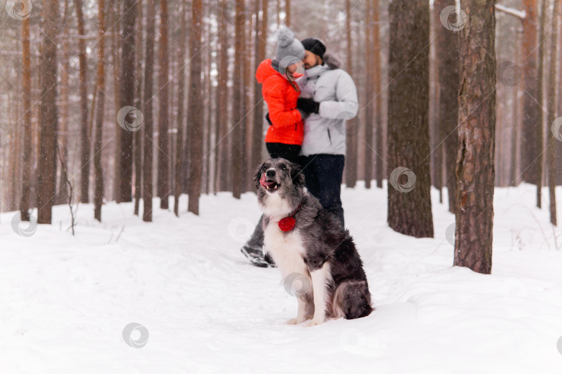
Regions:
[[[266,147],[272,158],[282,157],[298,163],[300,146],[305,137],[303,112],[297,109],[300,95],[294,80],[304,71],[305,47],[288,28],[277,34],[275,60],[264,60],[255,73],[262,84],[262,95],[269,109],[271,126],[266,134]]]

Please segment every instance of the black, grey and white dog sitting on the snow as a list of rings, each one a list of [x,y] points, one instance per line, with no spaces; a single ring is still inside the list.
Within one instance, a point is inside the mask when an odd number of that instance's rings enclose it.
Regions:
[[[300,167],[269,159],[255,174],[264,212],[264,247],[284,279],[299,274],[309,287],[297,296],[298,314],[289,324],[327,317],[355,319],[373,311],[363,262],[337,220],[305,188]]]

